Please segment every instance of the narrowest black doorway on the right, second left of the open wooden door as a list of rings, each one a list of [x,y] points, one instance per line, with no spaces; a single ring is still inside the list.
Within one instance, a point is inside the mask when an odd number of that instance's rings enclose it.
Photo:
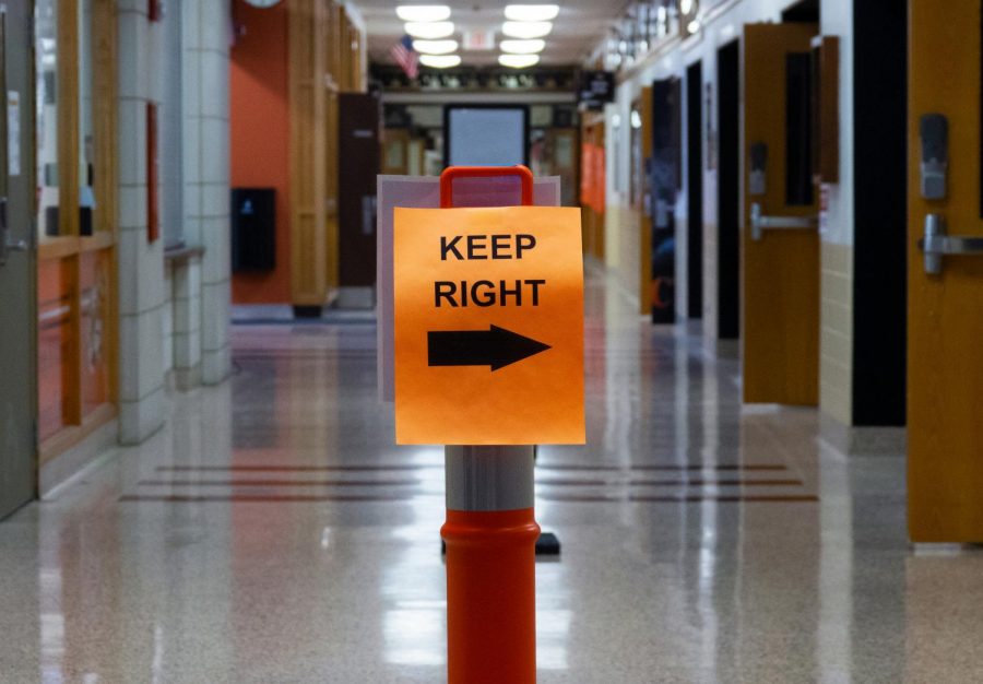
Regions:
[[[703,317],[703,70],[686,69],[686,280],[690,318]]]

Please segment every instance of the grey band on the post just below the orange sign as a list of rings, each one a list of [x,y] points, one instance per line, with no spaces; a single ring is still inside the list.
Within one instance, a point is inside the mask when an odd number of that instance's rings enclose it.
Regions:
[[[449,510],[520,510],[534,504],[533,446],[443,448]]]

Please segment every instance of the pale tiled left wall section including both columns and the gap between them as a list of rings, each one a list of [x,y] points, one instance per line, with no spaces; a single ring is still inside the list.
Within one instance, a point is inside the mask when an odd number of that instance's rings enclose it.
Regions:
[[[181,4],[183,249],[147,235],[146,107],[161,104],[170,64],[165,26],[147,3],[120,0],[120,425],[122,444],[153,434],[168,414],[169,372],[180,385],[228,376],[228,16],[223,3]],[[161,197],[166,202],[168,198]],[[123,293],[130,293],[129,296]]]

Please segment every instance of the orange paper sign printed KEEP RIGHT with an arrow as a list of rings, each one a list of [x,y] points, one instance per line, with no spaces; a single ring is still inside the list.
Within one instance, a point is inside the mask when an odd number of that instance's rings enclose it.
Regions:
[[[580,210],[396,209],[396,444],[583,444]]]

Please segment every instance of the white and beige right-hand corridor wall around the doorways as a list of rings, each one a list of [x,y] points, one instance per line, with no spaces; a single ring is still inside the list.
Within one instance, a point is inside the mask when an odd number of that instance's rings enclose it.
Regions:
[[[608,131],[606,262],[618,280],[631,293],[643,293],[639,282],[639,269],[626,260],[638,255],[640,236],[638,220],[628,207],[627,189],[630,175],[631,104],[641,89],[656,79],[685,79],[686,68],[697,60],[702,64],[702,86],[709,91],[709,104],[704,99],[703,139],[706,151],[699,163],[703,178],[703,337],[713,352],[732,354],[736,350],[718,339],[718,169],[712,165],[713,150],[720,130],[716,120],[716,52],[724,45],[739,40],[743,25],[756,22],[780,22],[789,0],[704,0],[701,4],[702,24],[699,31],[685,39],[664,42],[647,57],[619,72],[617,96],[606,110]],[[836,423],[853,423],[853,1],[821,0],[820,34],[840,39],[840,121],[839,121],[839,182],[826,188],[826,215],[821,240],[821,332],[820,332],[820,408]],[[600,46],[599,46],[599,49]],[[684,111],[684,121],[686,119]],[[684,123],[685,125],[685,123]],[[684,137],[687,134],[684,131]],[[741,145],[744,149],[744,145]],[[742,155],[743,156],[743,155]],[[711,163],[708,164],[708,160]],[[679,194],[686,197],[685,178],[688,164],[685,160],[684,184]],[[743,164],[743,161],[742,161]],[[742,172],[743,177],[743,172]],[[688,240],[687,207],[680,199],[676,203],[676,279],[685,283],[687,278]],[[677,311],[686,310],[686,288],[677,287]]]

